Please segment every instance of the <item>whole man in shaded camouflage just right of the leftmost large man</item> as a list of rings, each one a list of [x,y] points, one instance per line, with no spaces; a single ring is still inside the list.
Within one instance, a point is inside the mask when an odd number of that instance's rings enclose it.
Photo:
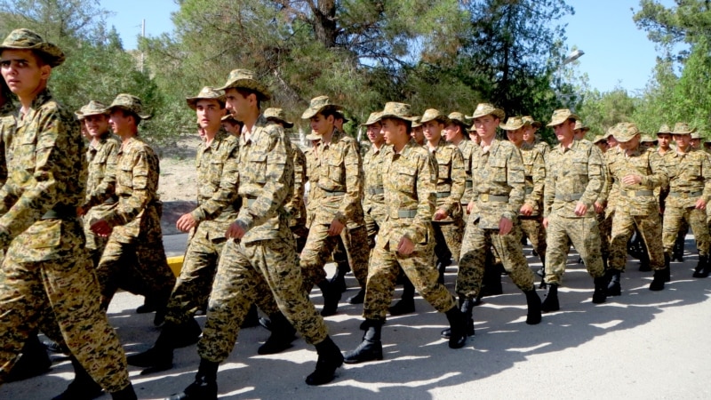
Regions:
[[[156,309],[153,323],[164,323],[165,310],[175,276],[165,258],[161,214],[163,204],[157,195],[160,167],[158,156],[139,137],[139,124],[150,116],[143,113],[141,101],[121,93],[108,106],[111,129],[121,138],[116,157],[116,170],[97,202],[116,196],[118,202],[91,229],[109,236],[101,254],[96,275],[101,285],[102,307],[114,297],[117,289],[146,296],[148,307]]]

